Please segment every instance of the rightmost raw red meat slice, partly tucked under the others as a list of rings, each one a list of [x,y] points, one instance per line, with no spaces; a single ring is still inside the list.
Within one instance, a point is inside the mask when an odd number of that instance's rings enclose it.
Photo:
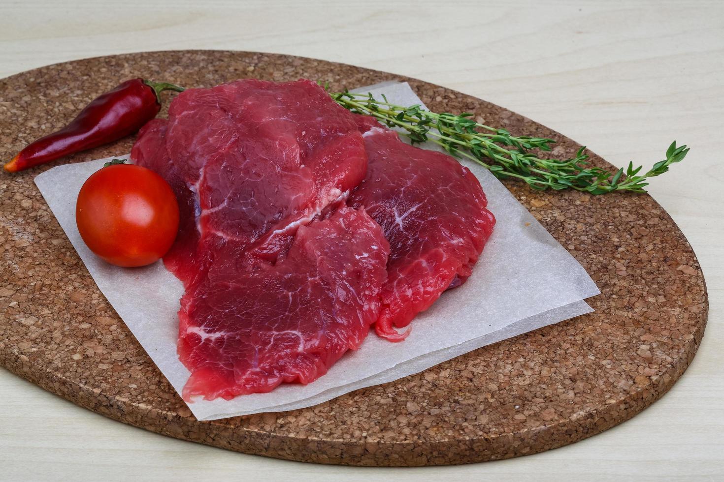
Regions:
[[[348,204],[364,208],[390,241],[379,336],[399,333],[447,288],[470,276],[495,218],[475,176],[442,152],[405,144],[374,119],[355,116],[368,154],[367,176]]]

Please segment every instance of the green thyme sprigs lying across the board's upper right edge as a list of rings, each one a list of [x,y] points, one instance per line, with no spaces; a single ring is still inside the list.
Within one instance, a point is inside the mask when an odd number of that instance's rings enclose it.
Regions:
[[[398,106],[382,95],[377,100],[369,94],[354,92],[330,92],[340,106],[348,110],[373,116],[389,127],[404,129],[402,135],[413,144],[434,142],[457,157],[468,158],[489,169],[497,178],[518,178],[533,189],[576,189],[591,194],[614,191],[645,192],[648,178],[660,176],[669,166],[678,163],[689,152],[686,145],[677,147],[672,142],[666,158],[655,163],[643,174],[642,166],[615,173],[591,165],[586,160],[586,147],[568,160],[539,157],[536,152],[550,152],[553,139],[543,137],[513,136],[505,129],[496,129],[471,119],[472,113],[434,113],[420,105]]]

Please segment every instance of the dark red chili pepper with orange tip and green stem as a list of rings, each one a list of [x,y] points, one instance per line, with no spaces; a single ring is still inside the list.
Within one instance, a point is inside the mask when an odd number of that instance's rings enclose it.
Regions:
[[[132,134],[159,113],[159,95],[164,90],[181,92],[183,88],[144,79],[127,80],[85,106],[63,129],[25,147],[3,167],[11,173],[22,171]]]

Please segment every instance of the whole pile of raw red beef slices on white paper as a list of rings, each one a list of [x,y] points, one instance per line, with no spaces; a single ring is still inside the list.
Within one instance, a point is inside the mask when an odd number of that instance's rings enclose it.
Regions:
[[[494,225],[457,161],[305,80],[186,90],[132,158],[180,204],[164,263],[185,287],[186,400],[312,382],[372,324],[403,339],[393,327],[465,282]]]

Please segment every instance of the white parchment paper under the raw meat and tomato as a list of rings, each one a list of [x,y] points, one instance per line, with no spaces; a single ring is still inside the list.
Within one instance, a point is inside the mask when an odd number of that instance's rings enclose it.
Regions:
[[[421,103],[406,83],[386,82],[360,90],[384,93],[402,105]],[[60,165],[39,174],[35,184],[98,288],[180,393],[189,376],[176,354],[180,281],[161,262],[134,269],[106,264],[88,250],[75,225],[80,186],[106,160]],[[492,174],[474,163],[463,164],[479,178],[497,219],[467,283],[443,293],[431,309],[419,314],[402,343],[371,333],[359,350],[346,354],[311,384],[282,384],[272,392],[234,400],[196,400],[188,404],[194,416],[215,420],[309,407],[592,311],[583,300],[599,290],[581,264]]]

